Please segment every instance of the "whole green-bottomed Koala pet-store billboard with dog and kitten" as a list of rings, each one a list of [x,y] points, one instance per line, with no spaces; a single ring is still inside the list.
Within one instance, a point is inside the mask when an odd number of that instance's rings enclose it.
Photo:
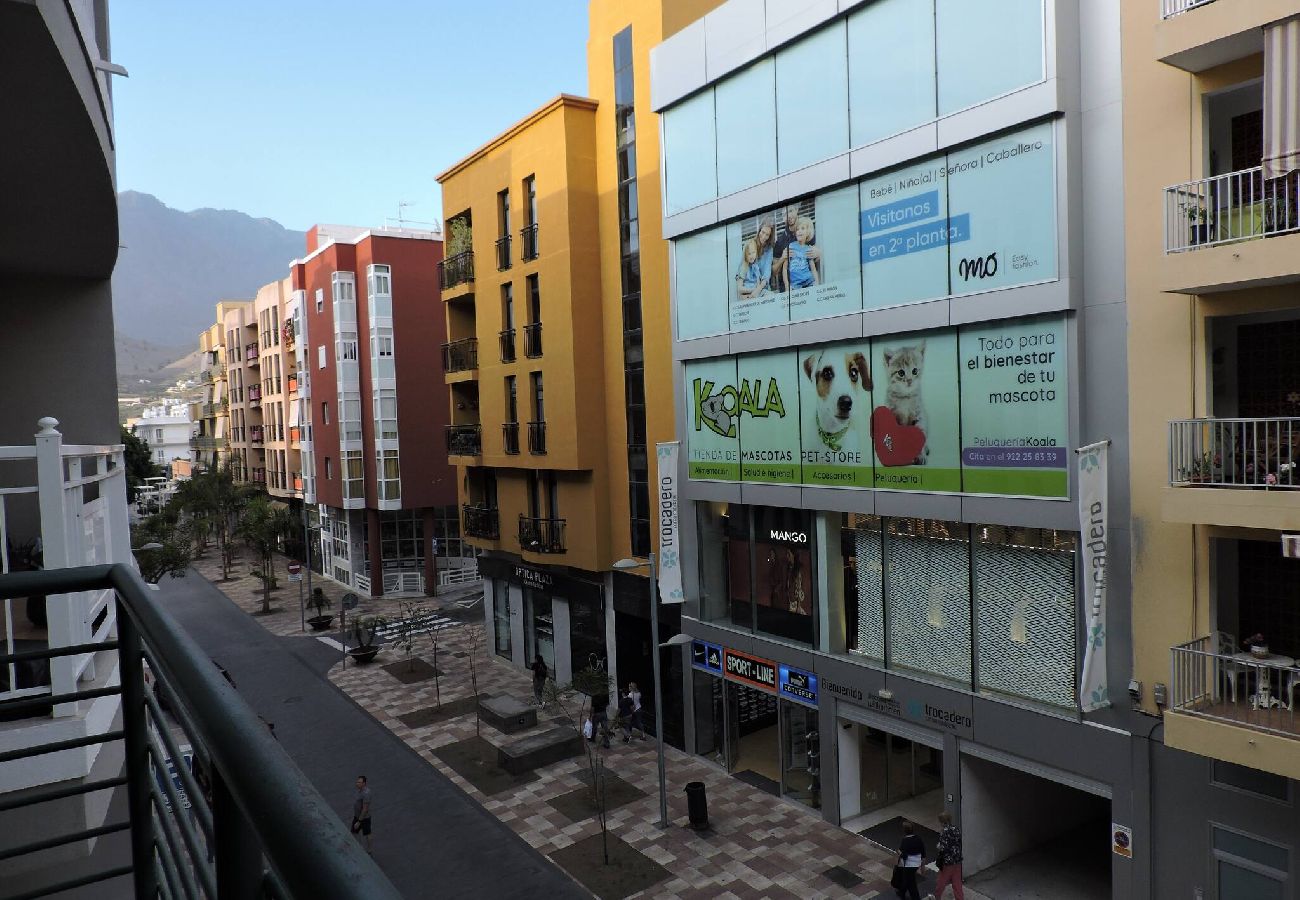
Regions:
[[[1069,496],[1063,315],[685,363],[688,476]]]

